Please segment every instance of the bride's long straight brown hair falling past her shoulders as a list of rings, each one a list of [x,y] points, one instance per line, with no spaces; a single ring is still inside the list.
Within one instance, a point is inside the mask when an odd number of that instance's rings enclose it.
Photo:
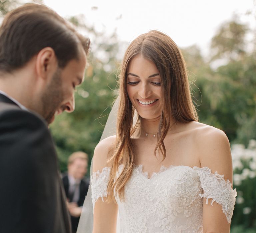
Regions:
[[[119,76],[119,109],[117,115],[116,142],[108,160],[110,179],[107,186],[107,201],[115,201],[114,190],[121,201],[124,201],[124,186],[129,180],[135,165],[135,150],[131,135],[139,125],[139,117],[133,123],[135,109],[127,93],[127,69],[130,61],[141,54],[151,60],[159,70],[161,77],[162,114],[157,133],[155,155],[159,150],[166,157],[164,138],[170,128],[170,120],[176,122],[197,121],[196,109],[192,103],[187,69],[180,49],[174,41],[160,31],[149,31],[138,36],[128,46]],[[123,169],[116,177],[120,164]]]

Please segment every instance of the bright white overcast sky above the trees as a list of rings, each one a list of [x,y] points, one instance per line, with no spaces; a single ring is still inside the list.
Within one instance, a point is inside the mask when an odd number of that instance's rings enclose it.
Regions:
[[[254,0],[44,0],[61,16],[84,14],[98,31],[130,42],[138,35],[158,29],[180,47],[197,44],[207,53],[219,25],[237,14],[243,23],[256,27]],[[97,7],[97,10],[95,10]],[[246,12],[253,10],[251,15]],[[93,43],[93,41],[92,41]]]

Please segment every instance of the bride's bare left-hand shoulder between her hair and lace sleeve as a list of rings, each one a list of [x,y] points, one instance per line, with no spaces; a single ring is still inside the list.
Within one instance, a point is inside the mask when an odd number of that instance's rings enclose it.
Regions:
[[[106,137],[95,147],[93,154],[93,171],[101,171],[104,167],[109,166],[107,159],[112,154],[115,141],[116,135]]]

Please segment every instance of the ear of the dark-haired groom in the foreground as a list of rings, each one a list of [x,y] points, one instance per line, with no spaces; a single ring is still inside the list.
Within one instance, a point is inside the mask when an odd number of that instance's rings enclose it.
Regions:
[[[43,80],[51,79],[58,68],[58,61],[54,50],[46,47],[40,50],[36,57],[36,74]]]

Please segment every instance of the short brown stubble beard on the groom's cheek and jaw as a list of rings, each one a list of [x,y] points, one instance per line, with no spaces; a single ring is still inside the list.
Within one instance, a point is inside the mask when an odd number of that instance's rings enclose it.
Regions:
[[[58,69],[52,77],[52,81],[49,84],[46,92],[42,95],[42,109],[43,117],[48,122],[52,123],[54,115],[58,109],[65,110],[65,106],[60,106],[63,101],[62,81],[60,75],[60,69]]]

